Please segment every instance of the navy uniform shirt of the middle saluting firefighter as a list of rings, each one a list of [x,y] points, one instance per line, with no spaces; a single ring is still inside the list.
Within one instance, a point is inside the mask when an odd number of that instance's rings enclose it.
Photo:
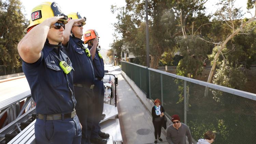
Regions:
[[[75,69],[74,84],[92,85],[94,83],[93,64],[91,56],[87,57],[82,44],[81,39],[70,36],[68,46],[64,47],[63,52],[68,55],[73,63]]]

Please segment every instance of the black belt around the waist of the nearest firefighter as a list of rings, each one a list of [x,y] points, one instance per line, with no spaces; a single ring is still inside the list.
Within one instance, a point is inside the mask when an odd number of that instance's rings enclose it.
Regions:
[[[76,115],[75,110],[71,113],[67,114],[52,114],[46,115],[46,120],[60,120],[60,119],[67,119],[73,118]],[[44,114],[37,114],[37,118],[44,120]]]

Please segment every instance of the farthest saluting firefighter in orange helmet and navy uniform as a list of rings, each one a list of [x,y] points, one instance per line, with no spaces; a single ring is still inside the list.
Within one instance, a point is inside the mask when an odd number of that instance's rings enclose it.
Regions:
[[[87,30],[84,34],[84,43],[88,44],[90,49],[91,56],[93,58],[93,67],[94,67],[94,95],[95,95],[95,115],[94,115],[94,125],[93,132],[91,133],[90,140],[95,141],[97,138],[108,139],[109,134],[100,131],[100,120],[103,112],[103,100],[104,100],[104,62],[99,49],[94,45],[94,39],[97,39],[98,33],[96,30]]]

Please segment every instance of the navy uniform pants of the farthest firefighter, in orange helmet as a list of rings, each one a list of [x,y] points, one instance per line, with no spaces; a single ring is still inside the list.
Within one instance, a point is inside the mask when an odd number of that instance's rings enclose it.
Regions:
[[[94,81],[94,95],[95,95],[95,115],[93,123],[93,132],[91,138],[99,136],[100,132],[100,118],[103,112],[103,101],[104,101],[104,85],[102,81]]]

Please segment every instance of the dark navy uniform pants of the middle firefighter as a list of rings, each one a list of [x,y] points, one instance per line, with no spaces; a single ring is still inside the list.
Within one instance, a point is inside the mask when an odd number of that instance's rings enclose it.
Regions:
[[[90,144],[90,136],[94,121],[94,91],[90,88],[74,87],[76,114],[82,125],[81,144]]]

